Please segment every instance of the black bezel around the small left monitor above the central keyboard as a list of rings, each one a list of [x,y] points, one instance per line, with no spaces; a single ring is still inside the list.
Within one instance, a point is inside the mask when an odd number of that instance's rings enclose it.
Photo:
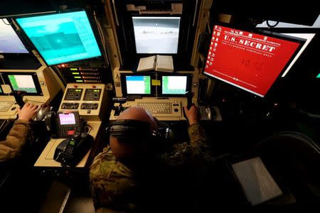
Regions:
[[[127,76],[150,76],[150,94],[128,94],[127,93]],[[155,97],[156,96],[156,88],[152,86],[152,80],[155,80],[154,73],[121,73],[120,80],[121,80],[121,89],[122,89],[122,97],[128,96],[142,96],[142,97]]]

